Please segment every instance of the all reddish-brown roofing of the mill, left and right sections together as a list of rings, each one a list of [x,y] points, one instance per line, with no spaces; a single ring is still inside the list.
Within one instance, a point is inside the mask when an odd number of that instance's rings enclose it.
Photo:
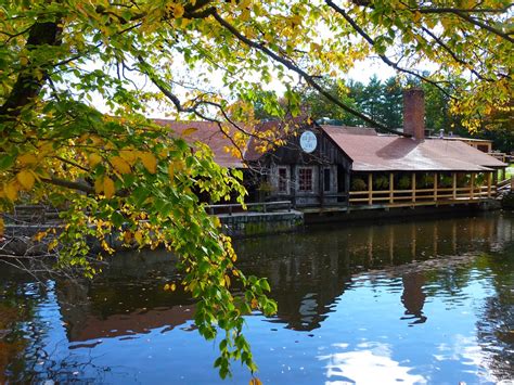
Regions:
[[[177,136],[182,136],[188,128],[196,131],[183,136],[188,143],[195,141],[207,144],[214,153],[216,163],[229,168],[243,168],[244,162],[227,147],[233,147],[231,140],[220,131],[218,125],[211,121],[177,121],[155,119],[156,124],[169,127]],[[255,128],[256,132],[273,130],[275,138],[287,137],[284,127],[291,128],[303,125],[303,119],[296,117],[292,121],[266,121]],[[243,125],[244,127],[244,125]],[[321,130],[352,161],[355,171],[393,171],[393,170],[425,170],[425,171],[486,171],[491,168],[505,167],[497,158],[464,143],[462,140],[426,139],[415,141],[397,136],[380,136],[374,129],[365,127],[340,127],[321,125]],[[247,127],[244,127],[247,129]],[[233,128],[235,130],[235,128]],[[291,132],[291,131],[290,131]],[[257,161],[262,156],[259,142],[254,137],[248,140],[243,150],[245,162]]]

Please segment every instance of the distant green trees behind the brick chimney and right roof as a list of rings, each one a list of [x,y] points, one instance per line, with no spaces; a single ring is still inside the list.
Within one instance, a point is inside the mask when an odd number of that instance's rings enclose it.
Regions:
[[[377,77],[372,77],[367,85],[354,80],[346,82],[327,80],[324,81],[324,86],[346,104],[391,128],[403,125],[403,89],[410,86],[421,87],[425,91],[425,125],[426,128],[433,130],[434,134],[445,130],[446,133],[452,131],[462,137],[490,139],[493,141],[493,149],[503,152],[514,151],[513,119],[510,114],[504,113],[502,116],[496,113],[484,117],[481,129],[471,134],[462,126],[460,117],[450,113],[450,98],[435,86],[421,85],[416,79],[400,81],[396,77],[390,77],[381,81]],[[313,90],[301,90],[300,97],[301,104],[310,111],[311,117],[316,120],[330,119],[334,124],[367,126],[364,121],[336,107]],[[256,116],[269,118],[264,108],[258,105],[256,105]]]

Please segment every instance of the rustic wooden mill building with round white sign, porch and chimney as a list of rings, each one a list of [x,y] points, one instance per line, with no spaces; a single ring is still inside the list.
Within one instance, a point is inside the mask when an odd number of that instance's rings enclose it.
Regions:
[[[231,143],[207,127],[214,125],[167,124],[178,131],[198,128],[196,139],[209,144],[223,166],[245,170],[254,202],[345,209],[475,203],[496,195],[498,171],[506,164],[460,140],[425,138],[423,91],[404,93],[403,121],[409,138],[297,118],[288,123],[295,129],[284,145],[261,153],[250,139],[242,159],[220,150]],[[269,121],[259,129],[281,131],[285,124]]]

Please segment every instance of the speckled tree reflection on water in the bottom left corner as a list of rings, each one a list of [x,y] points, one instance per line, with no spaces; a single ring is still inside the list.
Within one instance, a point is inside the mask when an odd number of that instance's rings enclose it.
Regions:
[[[49,350],[50,320],[38,309],[52,306],[53,282],[29,282],[30,277],[16,272],[5,277],[0,281],[0,384],[101,382],[111,369],[97,367],[93,358],[85,361]]]

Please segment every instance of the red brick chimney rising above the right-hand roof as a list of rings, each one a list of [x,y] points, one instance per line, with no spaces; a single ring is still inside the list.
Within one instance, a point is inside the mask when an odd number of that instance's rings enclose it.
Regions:
[[[403,132],[425,139],[425,95],[421,88],[403,91]]]

